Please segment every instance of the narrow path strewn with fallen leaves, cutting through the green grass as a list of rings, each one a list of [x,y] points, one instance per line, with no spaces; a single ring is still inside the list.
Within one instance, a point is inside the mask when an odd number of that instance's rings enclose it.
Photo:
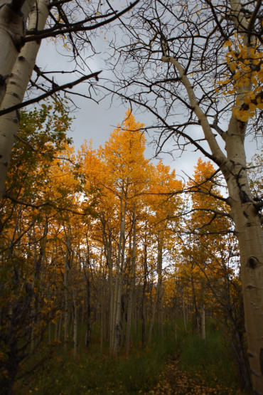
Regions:
[[[179,359],[173,357],[169,357],[159,383],[149,391],[149,394],[245,395],[242,391],[222,387],[220,384],[215,384],[214,387],[209,386],[205,383],[201,374],[193,375],[190,372],[183,371],[179,367]]]

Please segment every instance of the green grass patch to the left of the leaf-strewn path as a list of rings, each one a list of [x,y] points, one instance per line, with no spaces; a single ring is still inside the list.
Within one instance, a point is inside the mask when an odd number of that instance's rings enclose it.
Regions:
[[[153,343],[145,349],[133,348],[129,357],[110,357],[89,349],[77,361],[73,353],[65,356],[63,347],[43,364],[30,381],[20,381],[17,394],[138,394],[147,392],[159,381],[168,342]]]

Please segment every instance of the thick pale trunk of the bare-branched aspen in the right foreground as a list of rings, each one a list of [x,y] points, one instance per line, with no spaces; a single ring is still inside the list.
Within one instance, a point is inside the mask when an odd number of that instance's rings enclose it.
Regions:
[[[226,139],[227,156],[235,159],[227,186],[231,216],[240,246],[240,269],[245,309],[249,366],[253,389],[263,394],[263,235],[249,191],[242,122],[234,117]]]

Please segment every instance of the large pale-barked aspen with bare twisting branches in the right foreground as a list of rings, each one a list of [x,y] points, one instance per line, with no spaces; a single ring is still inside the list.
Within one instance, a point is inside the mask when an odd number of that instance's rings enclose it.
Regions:
[[[259,135],[262,121],[261,6],[240,0],[144,1],[129,23],[123,19],[118,26],[122,42],[118,34],[109,63],[115,85],[107,86],[156,117],[159,150],[171,151],[171,144],[198,149],[225,177],[225,201],[240,246],[252,386],[260,394],[262,201],[249,189],[245,136]]]

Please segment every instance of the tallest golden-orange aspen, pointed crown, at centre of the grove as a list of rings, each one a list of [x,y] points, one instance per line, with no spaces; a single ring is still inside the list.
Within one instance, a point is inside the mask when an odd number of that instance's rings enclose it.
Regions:
[[[145,137],[141,133],[143,126],[136,122],[132,113],[128,111],[122,125],[114,130],[109,137],[109,141],[104,144],[104,147],[100,147],[97,154],[87,146],[82,147],[81,152],[82,155],[85,155],[83,169],[87,175],[87,186],[100,190],[98,218],[100,219],[101,238],[109,267],[111,299],[109,304],[109,344],[114,354],[118,352],[120,337],[122,336],[122,293],[124,269],[128,262],[128,265],[132,267],[133,278],[135,275],[135,223],[136,206],[138,206],[136,195],[140,194],[145,188],[146,168],[149,162],[144,158]],[[131,213],[133,213],[133,219],[129,216]],[[119,227],[117,233],[116,227]],[[127,248],[127,235],[130,232],[134,233],[134,236],[130,238],[132,245]],[[116,255],[113,253],[114,246],[117,247]],[[132,255],[129,256],[131,252]],[[113,265],[115,267],[114,284]],[[130,306],[132,305],[132,288],[129,288]],[[128,307],[128,317],[131,314],[130,308]],[[130,320],[128,320],[127,325],[129,328]]]

